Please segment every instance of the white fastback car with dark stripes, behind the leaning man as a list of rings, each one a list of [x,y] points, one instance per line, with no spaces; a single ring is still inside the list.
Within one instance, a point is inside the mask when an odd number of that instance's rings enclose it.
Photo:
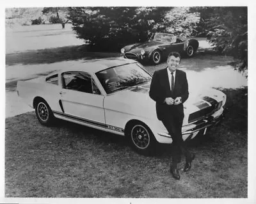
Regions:
[[[113,132],[129,139],[138,153],[148,155],[159,143],[172,143],[157,120],[155,102],[148,91],[152,76],[131,59],[108,58],[77,63],[73,67],[17,83],[17,93],[43,125],[55,118]],[[209,89],[189,94],[184,103],[183,139],[223,118],[226,95]]]

